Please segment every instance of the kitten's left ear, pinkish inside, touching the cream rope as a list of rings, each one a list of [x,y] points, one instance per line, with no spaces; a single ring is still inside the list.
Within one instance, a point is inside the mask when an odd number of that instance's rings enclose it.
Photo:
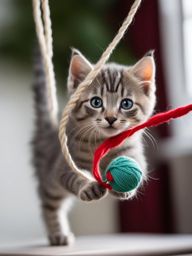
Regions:
[[[72,49],[68,76],[68,91],[74,92],[92,70],[91,63],[76,49]]]

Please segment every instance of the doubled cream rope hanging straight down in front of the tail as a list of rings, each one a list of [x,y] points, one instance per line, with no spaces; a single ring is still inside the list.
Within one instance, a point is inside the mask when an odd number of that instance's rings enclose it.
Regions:
[[[42,12],[41,12],[42,10]],[[48,104],[51,121],[54,125],[58,124],[57,119],[57,97],[56,82],[53,67],[53,39],[51,29],[51,18],[48,0],[33,0],[33,15],[36,27],[39,47],[45,68],[46,86],[48,91]]]

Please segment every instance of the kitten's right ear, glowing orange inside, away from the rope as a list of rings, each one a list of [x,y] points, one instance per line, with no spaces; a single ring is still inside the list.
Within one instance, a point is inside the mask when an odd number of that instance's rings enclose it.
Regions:
[[[134,76],[141,81],[144,92],[147,94],[155,82],[154,52],[150,51],[132,68]]]

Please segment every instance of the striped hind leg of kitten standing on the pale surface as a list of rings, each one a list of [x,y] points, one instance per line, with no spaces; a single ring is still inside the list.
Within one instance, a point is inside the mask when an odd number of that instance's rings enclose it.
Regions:
[[[41,191],[43,220],[47,229],[51,245],[68,245],[74,236],[70,231],[67,218],[72,198],[69,196],[55,196],[50,192]]]

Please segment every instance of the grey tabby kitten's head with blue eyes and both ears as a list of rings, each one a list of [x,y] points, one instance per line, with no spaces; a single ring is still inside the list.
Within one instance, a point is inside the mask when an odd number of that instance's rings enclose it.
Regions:
[[[91,68],[91,64],[75,52],[68,80],[70,92],[74,92]],[[145,121],[155,104],[154,69],[153,56],[146,56],[129,68],[105,65],[73,111],[79,126],[110,137]]]

